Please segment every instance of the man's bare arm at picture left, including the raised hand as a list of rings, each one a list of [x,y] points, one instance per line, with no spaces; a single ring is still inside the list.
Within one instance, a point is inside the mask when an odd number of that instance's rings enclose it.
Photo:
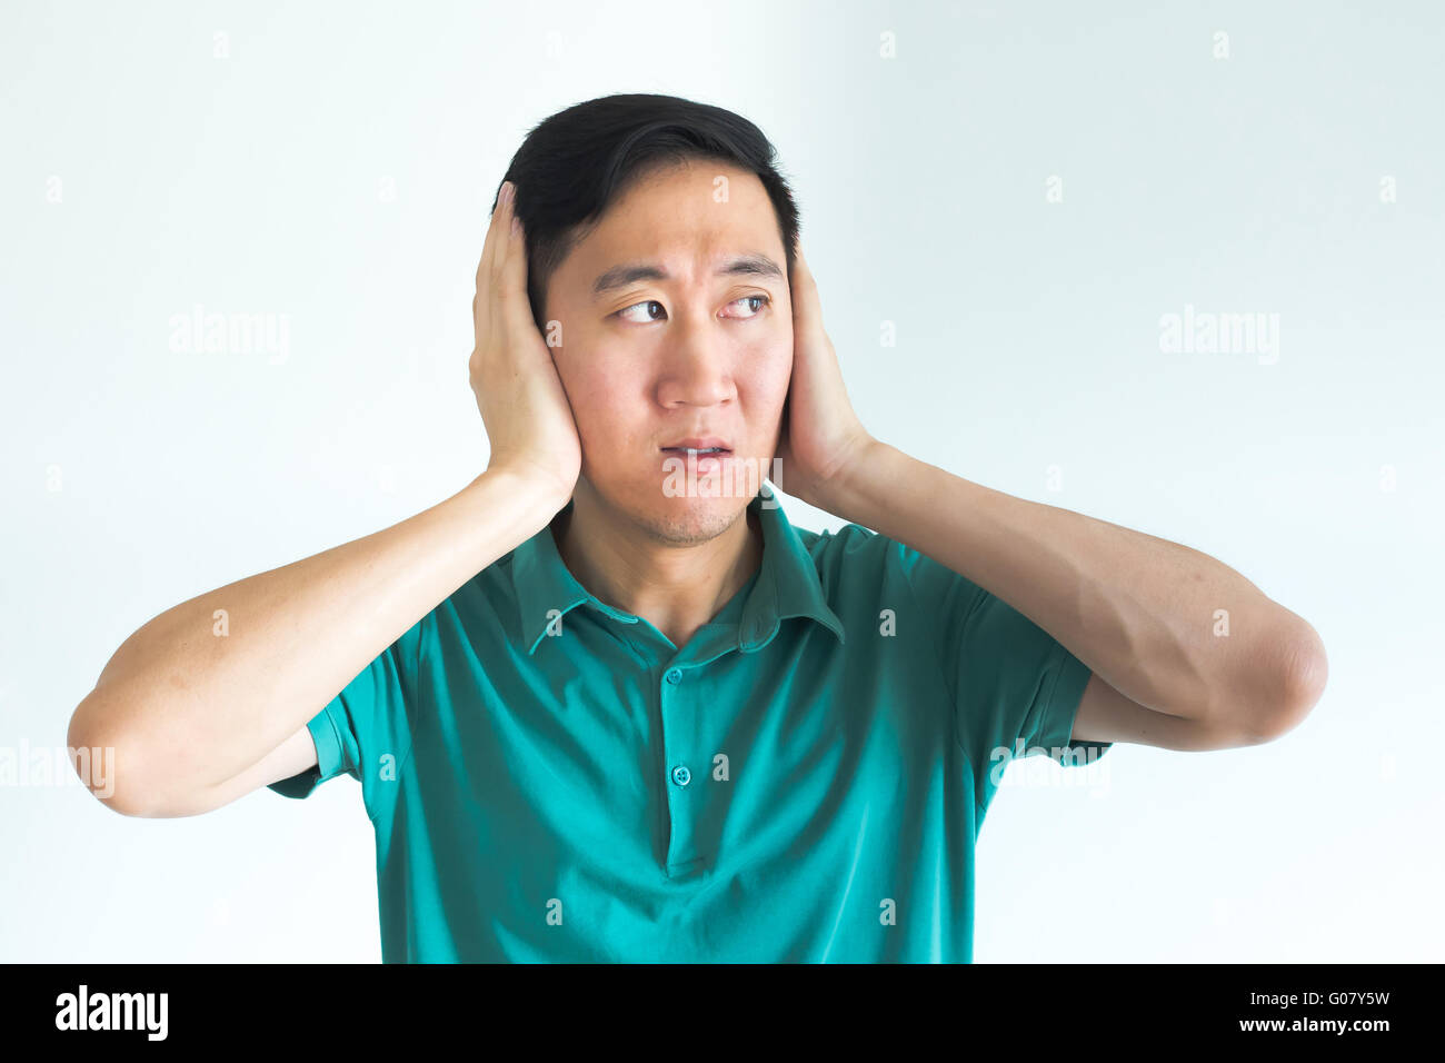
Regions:
[[[194,816],[305,771],[316,756],[308,720],[566,505],[581,444],[527,305],[507,195],[493,207],[473,318],[487,471],[392,528],[184,602],[126,639],[68,735],[72,748],[114,749],[113,791],[97,791],[111,808]]]

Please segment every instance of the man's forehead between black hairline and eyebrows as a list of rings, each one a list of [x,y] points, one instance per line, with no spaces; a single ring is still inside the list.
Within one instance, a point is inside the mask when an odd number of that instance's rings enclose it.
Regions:
[[[702,279],[722,259],[766,255],[783,263],[777,214],[757,175],[709,159],[653,171],[614,200],[568,255],[558,281],[579,298],[617,266],[655,262]]]

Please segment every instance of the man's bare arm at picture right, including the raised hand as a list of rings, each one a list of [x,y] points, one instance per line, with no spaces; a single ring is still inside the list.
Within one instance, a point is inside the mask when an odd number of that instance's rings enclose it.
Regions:
[[[990,490],[873,438],[842,385],[802,247],[783,490],[1007,603],[1082,661],[1075,742],[1222,749],[1272,740],[1319,700],[1319,632],[1221,561]],[[1233,636],[1231,636],[1233,629]]]

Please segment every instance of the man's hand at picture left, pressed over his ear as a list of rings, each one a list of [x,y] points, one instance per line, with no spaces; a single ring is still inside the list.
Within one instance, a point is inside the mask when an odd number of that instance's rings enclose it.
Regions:
[[[510,181],[503,184],[477,266],[471,389],[491,444],[487,471],[519,476],[562,509],[581,474],[582,445],[552,351],[532,320],[513,191]]]

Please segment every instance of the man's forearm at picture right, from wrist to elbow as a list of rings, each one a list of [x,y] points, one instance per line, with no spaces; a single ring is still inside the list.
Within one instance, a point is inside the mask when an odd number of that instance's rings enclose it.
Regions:
[[[1318,641],[1303,619],[1207,554],[991,490],[883,443],[838,492],[832,512],[1003,599],[1155,712],[1286,712],[1293,664]]]

